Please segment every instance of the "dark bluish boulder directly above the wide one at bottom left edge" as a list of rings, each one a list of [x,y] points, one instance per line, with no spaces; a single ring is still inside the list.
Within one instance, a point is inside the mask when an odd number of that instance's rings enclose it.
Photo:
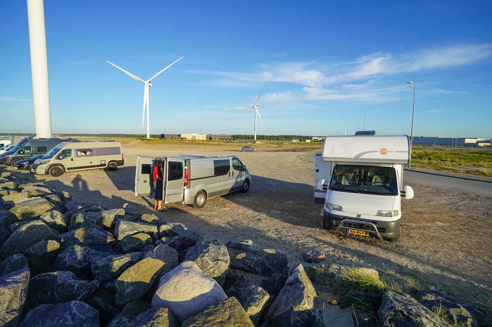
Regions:
[[[41,273],[29,282],[31,306],[84,301],[99,286],[97,280],[83,280],[72,272]]]

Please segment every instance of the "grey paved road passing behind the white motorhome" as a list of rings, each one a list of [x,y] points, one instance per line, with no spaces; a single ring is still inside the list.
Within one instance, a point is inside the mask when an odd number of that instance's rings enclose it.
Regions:
[[[315,153],[316,151],[302,153],[300,157],[302,160],[314,163]],[[452,191],[492,196],[492,180],[481,179],[480,177],[447,175],[405,168],[403,181],[435,186]]]

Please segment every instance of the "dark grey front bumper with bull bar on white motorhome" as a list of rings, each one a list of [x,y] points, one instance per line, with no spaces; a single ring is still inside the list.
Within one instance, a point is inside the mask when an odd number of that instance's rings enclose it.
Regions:
[[[343,225],[338,228],[342,220]],[[345,231],[347,228],[362,230],[371,233],[376,237],[392,239],[400,234],[401,218],[395,221],[369,220],[354,217],[346,217],[330,214],[323,210],[323,223],[325,227],[338,231]],[[376,230],[374,230],[374,227]]]

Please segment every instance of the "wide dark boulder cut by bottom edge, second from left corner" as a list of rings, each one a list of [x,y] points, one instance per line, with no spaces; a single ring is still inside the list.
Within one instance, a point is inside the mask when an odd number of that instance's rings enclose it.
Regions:
[[[81,301],[41,304],[28,313],[19,327],[99,327],[98,315],[96,309]]]

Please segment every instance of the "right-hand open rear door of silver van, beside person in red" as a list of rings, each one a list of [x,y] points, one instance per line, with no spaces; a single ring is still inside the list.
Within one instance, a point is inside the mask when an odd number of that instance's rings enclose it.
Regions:
[[[169,158],[165,162],[164,203],[180,202],[184,199],[184,160]]]

